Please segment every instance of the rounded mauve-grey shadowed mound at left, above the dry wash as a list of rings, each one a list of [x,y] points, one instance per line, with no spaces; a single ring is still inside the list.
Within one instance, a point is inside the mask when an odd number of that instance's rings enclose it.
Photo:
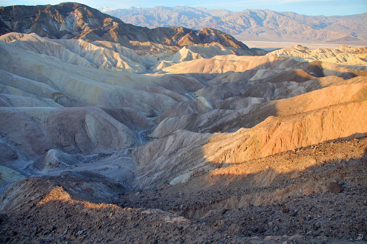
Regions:
[[[6,125],[1,133],[31,157],[52,148],[91,154],[140,143],[126,125],[98,107],[1,108],[0,113],[1,124]]]

